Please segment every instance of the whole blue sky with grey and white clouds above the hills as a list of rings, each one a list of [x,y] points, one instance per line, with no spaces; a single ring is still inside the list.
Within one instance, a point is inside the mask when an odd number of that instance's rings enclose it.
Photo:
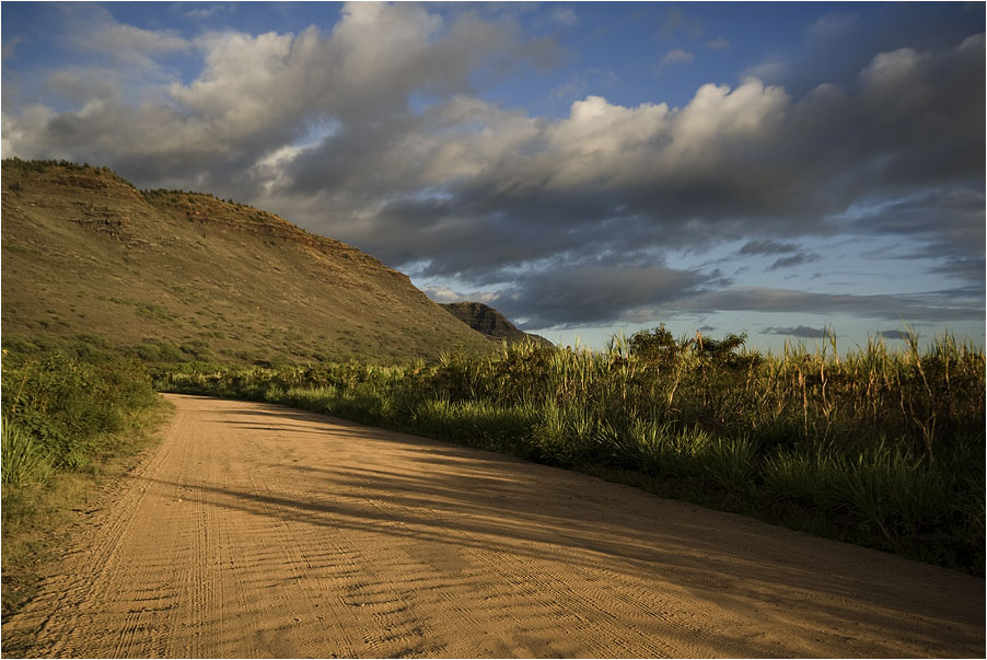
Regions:
[[[9,2],[3,158],[252,204],[556,343],[985,337],[985,4]]]

